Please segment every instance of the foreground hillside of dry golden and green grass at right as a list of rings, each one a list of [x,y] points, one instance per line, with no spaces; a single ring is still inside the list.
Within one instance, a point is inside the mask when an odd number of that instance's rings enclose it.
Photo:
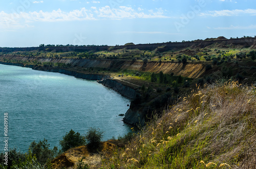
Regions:
[[[219,81],[170,105],[104,168],[255,168],[256,88]]]

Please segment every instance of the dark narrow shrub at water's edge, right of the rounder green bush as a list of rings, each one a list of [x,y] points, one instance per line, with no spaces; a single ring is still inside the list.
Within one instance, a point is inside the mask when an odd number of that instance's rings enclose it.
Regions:
[[[87,148],[91,151],[91,152],[97,152],[100,151],[101,149],[101,138],[103,131],[101,131],[100,129],[96,129],[96,128],[90,128],[86,134],[86,139],[88,141],[87,144]]]

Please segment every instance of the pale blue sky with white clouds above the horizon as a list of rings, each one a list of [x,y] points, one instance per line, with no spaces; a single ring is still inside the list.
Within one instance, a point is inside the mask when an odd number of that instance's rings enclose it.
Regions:
[[[123,45],[255,35],[255,0],[0,2],[0,47]]]

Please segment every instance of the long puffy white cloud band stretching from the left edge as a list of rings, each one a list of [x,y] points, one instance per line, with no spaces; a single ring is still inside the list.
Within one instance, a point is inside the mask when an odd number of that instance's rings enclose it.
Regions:
[[[120,6],[119,8],[91,7],[90,9],[82,8],[70,12],[63,12],[60,9],[51,12],[33,11],[20,13],[0,12],[1,29],[19,29],[30,27],[35,21],[73,21],[73,20],[96,20],[96,19],[123,19],[123,18],[168,18],[163,14],[161,8],[155,10],[133,9],[132,7]]]

